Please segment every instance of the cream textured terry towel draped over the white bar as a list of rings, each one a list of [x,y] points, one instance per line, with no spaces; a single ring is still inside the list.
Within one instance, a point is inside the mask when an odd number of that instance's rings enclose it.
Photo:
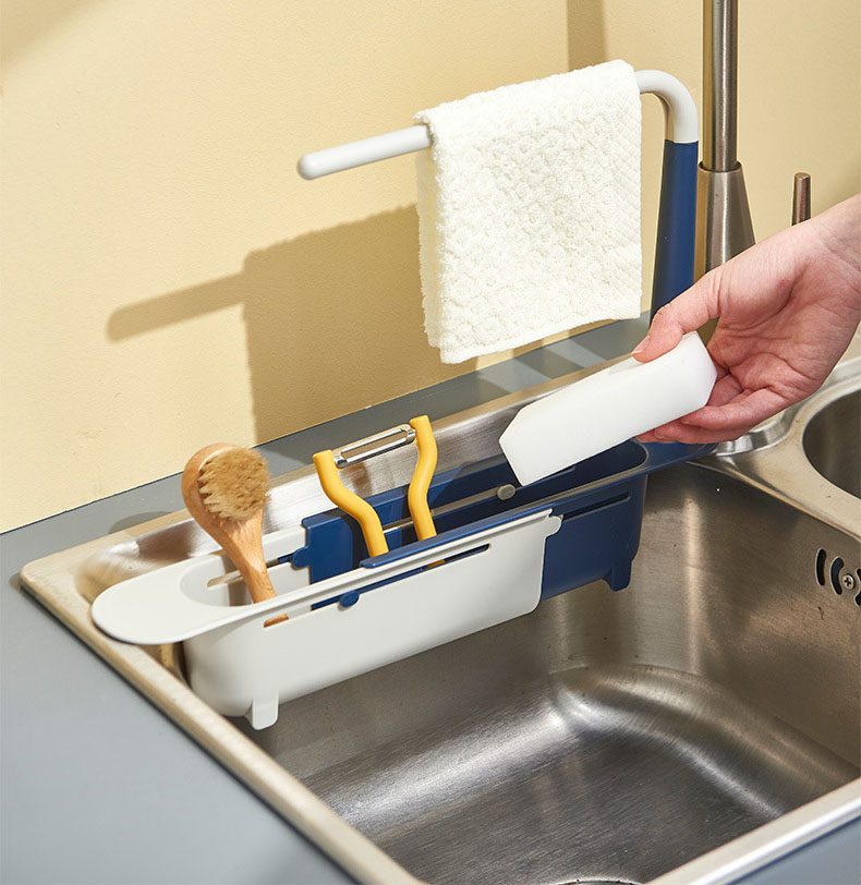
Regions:
[[[640,92],[610,61],[421,111],[425,330],[444,363],[639,316]]]

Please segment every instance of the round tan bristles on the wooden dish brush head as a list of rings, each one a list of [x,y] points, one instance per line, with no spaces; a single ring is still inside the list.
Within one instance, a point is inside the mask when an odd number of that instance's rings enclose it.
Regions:
[[[269,471],[256,451],[228,449],[206,461],[197,478],[197,488],[214,517],[244,520],[266,504]]]

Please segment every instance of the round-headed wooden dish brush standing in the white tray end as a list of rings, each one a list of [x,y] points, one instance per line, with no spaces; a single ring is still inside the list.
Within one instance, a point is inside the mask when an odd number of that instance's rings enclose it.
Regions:
[[[263,508],[269,494],[266,461],[250,449],[215,442],[189,459],[182,498],[197,524],[230,557],[255,603],[276,596],[263,556]],[[264,625],[287,620],[287,615]]]

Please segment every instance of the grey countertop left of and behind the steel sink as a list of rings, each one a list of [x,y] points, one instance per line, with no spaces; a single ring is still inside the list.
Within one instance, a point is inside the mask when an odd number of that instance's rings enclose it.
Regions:
[[[260,446],[272,475],[630,351],[615,323]],[[0,882],[350,882],[23,591],[21,568],[182,509],[178,476],[0,536]]]

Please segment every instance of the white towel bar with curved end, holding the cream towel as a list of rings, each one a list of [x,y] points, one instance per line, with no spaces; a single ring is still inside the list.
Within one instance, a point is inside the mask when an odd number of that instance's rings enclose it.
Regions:
[[[695,142],[700,130],[696,105],[684,84],[665,71],[636,71],[635,76],[641,94],[656,95],[664,104],[666,137],[678,144]],[[344,169],[354,169],[401,154],[412,154],[426,147],[430,147],[430,133],[427,126],[408,126],[384,135],[374,135],[371,138],[305,154],[299,160],[299,174],[303,179],[318,179],[332,172],[342,172]]]

